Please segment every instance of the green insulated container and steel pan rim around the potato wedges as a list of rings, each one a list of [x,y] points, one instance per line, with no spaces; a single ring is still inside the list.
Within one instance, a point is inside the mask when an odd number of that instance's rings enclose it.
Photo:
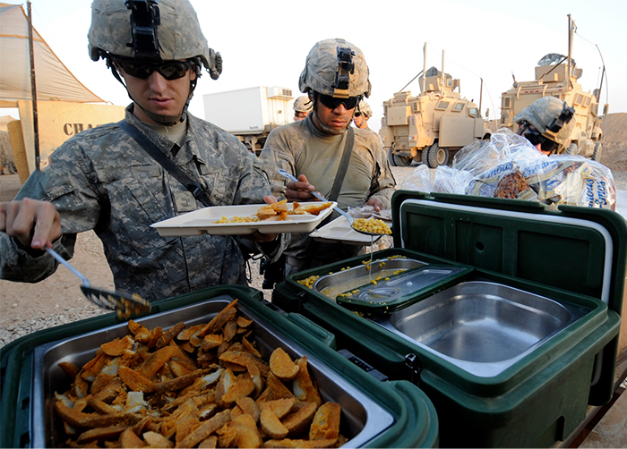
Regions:
[[[220,286],[154,304],[142,326],[166,331],[181,321],[207,323],[230,302],[253,320],[254,343],[268,360],[277,347],[292,359],[306,356],[322,401],[341,406],[340,432],[349,447],[435,447],[438,421],[434,405],[406,380],[381,381],[335,351],[335,337],[298,314],[286,314],[262,301],[262,293]],[[128,335],[127,323],[109,314],[27,335],[2,348],[3,447],[63,446],[61,419],[53,408],[55,392],[70,386],[62,361],[82,366],[102,343]]]

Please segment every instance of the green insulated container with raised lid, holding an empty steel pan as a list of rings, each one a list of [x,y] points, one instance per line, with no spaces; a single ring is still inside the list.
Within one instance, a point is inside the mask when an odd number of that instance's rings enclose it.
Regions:
[[[418,385],[434,402],[442,447],[554,445],[588,404],[609,402],[627,257],[622,216],[397,191],[392,220],[394,247],[374,259],[471,269],[415,299],[405,291],[396,309],[355,310],[314,288],[338,266],[362,262],[350,259],[289,276],[272,303],[328,329],[340,350],[384,375]]]

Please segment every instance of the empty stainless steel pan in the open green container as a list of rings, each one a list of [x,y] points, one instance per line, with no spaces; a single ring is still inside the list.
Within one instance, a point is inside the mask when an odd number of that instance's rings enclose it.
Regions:
[[[370,318],[478,377],[494,377],[590,310],[491,282],[464,282]]]

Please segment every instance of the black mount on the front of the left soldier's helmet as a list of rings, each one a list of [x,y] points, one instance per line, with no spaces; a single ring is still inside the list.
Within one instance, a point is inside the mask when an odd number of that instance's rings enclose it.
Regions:
[[[125,5],[131,10],[132,47],[136,58],[161,59],[157,27],[161,22],[159,0],[126,0]]]

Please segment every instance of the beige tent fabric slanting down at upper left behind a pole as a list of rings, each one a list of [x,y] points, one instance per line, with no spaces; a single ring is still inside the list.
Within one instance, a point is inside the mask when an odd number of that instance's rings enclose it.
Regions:
[[[37,30],[32,30],[38,101],[104,103],[59,60]],[[20,4],[0,3],[0,106],[30,100],[29,23]]]

